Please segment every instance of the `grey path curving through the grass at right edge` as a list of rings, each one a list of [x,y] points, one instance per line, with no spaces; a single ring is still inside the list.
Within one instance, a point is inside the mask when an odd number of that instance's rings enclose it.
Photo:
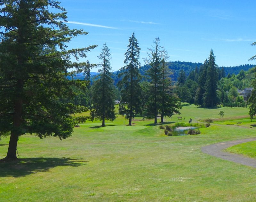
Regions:
[[[210,154],[212,156],[219,157],[224,160],[233,161],[246,166],[252,166],[256,168],[256,159],[245,157],[244,155],[224,152],[222,150],[227,149],[230,146],[241,144],[244,142],[256,141],[256,138],[246,138],[240,140],[234,140],[229,142],[220,142],[213,145],[207,145],[202,147],[202,152]]]

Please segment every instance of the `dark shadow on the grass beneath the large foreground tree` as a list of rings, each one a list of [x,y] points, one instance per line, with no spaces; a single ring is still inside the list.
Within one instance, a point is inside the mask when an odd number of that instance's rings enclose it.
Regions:
[[[84,159],[73,158],[27,158],[16,161],[0,161],[0,177],[21,177],[46,172],[57,166],[78,167],[87,165]]]

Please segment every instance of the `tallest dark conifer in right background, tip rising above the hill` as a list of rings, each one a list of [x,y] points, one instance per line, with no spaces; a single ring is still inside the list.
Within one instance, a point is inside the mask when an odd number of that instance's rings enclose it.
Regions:
[[[208,68],[205,78],[204,107],[214,107],[218,103],[217,83],[219,80],[218,65],[215,64],[213,50],[210,51]]]

